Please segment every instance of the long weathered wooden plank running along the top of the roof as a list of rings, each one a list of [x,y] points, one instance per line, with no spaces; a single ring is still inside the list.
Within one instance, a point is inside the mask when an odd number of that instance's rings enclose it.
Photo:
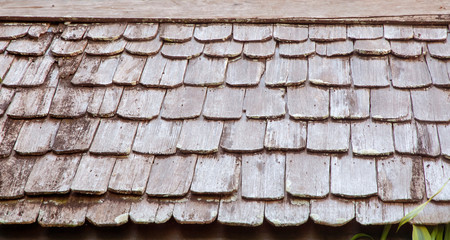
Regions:
[[[321,19],[323,22],[448,22],[449,10],[441,1],[282,1],[232,0],[232,1],[183,1],[158,0],[118,0],[111,4],[108,0],[95,2],[81,0],[68,2],[54,0],[5,0],[2,1],[0,18],[5,20],[34,19],[68,21],[117,21],[137,20],[178,20],[197,21],[250,20],[268,21],[309,21]],[[108,9],[108,11],[105,11]],[[186,11],[189,9],[189,11]],[[352,9],[352,11],[348,11]],[[123,17],[118,17],[123,16]]]

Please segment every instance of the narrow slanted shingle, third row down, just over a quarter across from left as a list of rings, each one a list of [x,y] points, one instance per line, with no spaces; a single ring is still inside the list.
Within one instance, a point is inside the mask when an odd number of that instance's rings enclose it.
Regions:
[[[139,82],[146,60],[145,57],[132,56],[127,53],[121,54],[114,73],[113,83],[136,85]]]

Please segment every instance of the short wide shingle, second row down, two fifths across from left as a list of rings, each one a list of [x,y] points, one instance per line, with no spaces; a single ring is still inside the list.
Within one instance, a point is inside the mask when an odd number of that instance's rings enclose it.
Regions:
[[[169,59],[191,59],[203,52],[203,43],[191,40],[185,43],[164,43],[161,54]]]

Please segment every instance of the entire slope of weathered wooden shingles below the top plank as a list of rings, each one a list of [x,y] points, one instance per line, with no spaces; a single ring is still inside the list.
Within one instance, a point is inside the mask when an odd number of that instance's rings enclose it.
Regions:
[[[450,174],[447,35],[3,24],[0,222],[398,222]]]

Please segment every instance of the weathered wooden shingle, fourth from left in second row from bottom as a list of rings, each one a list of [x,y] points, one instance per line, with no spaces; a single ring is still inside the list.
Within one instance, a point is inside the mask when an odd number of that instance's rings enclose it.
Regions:
[[[122,194],[144,194],[152,163],[153,156],[137,154],[117,159],[108,190]]]

